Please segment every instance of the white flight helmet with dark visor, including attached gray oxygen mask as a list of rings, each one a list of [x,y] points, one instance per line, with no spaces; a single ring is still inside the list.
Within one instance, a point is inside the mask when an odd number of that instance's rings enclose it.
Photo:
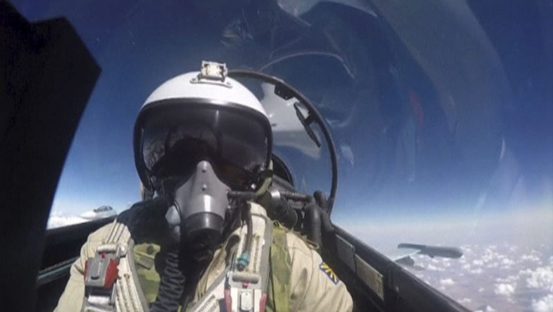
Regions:
[[[216,241],[228,190],[254,191],[263,182],[272,131],[259,100],[227,77],[225,64],[203,62],[199,72],[171,78],[149,95],[133,145],[144,188],[173,200],[173,217],[166,217],[176,235]]]

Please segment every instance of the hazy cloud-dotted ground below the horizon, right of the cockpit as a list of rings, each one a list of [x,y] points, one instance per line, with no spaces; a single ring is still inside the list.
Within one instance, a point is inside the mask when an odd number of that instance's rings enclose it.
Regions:
[[[415,255],[422,281],[473,311],[553,311],[553,211],[475,219],[400,219],[339,224],[380,252],[401,242],[460,246],[460,259]]]

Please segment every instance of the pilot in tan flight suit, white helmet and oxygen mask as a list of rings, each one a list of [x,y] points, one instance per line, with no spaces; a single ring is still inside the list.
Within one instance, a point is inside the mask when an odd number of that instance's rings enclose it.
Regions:
[[[145,199],[89,235],[56,311],[352,310],[316,246],[256,203],[272,130],[224,64],[153,91],[133,141]]]

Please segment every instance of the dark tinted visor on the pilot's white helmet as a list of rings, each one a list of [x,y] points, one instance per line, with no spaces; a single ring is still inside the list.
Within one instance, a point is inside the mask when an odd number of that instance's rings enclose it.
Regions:
[[[208,160],[221,181],[247,186],[267,163],[270,126],[254,111],[187,104],[153,107],[144,113],[140,155],[153,180],[186,176],[201,160]]]

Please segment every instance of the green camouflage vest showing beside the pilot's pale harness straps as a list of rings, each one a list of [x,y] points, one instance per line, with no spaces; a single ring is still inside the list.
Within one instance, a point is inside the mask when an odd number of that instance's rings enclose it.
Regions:
[[[286,229],[278,224],[273,226],[269,266],[270,282],[265,311],[288,311],[290,302],[291,260],[286,243]],[[147,302],[156,301],[160,275],[156,271],[155,257],[160,247],[156,244],[138,244],[133,248],[136,272],[140,288]]]

